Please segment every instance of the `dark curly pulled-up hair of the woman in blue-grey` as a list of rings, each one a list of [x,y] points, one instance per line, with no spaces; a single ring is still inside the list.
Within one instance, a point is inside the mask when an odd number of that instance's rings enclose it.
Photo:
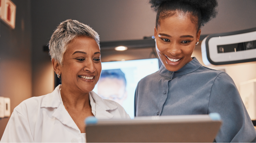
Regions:
[[[193,23],[198,26],[197,31],[205,23],[217,16],[217,0],[150,0],[151,8],[157,12],[156,27],[160,20],[180,13],[190,13]]]

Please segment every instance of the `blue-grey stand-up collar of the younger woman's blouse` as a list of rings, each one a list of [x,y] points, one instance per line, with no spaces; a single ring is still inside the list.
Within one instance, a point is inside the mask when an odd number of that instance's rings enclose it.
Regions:
[[[193,60],[190,61],[189,63],[187,63],[185,66],[183,66],[181,69],[179,69],[178,71],[172,72],[172,71],[168,71],[163,65],[160,67],[159,69],[159,74],[162,76],[166,76],[166,77],[173,77],[175,76],[180,76],[180,75],[184,75],[187,73],[191,73],[195,70],[197,70],[199,67],[201,67],[202,65],[198,62],[198,60],[196,59],[196,57],[192,58]]]

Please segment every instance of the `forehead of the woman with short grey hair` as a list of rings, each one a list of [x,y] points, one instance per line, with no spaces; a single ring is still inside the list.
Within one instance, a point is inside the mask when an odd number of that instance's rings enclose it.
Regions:
[[[97,42],[91,37],[78,36],[71,40],[71,42],[67,45],[66,52],[74,52],[74,51],[83,51],[86,53],[99,52],[100,48]]]

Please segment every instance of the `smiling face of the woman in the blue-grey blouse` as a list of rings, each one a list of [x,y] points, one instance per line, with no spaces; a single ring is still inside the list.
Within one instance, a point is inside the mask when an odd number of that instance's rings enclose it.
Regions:
[[[192,23],[190,14],[176,12],[171,17],[161,19],[156,30],[156,51],[164,67],[177,71],[189,63],[201,30]]]

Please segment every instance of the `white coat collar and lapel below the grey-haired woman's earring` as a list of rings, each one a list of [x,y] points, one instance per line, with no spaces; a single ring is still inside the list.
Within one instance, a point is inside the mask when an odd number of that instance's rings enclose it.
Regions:
[[[71,118],[71,116],[68,114],[67,110],[65,109],[65,106],[63,105],[60,95],[60,88],[61,85],[57,86],[52,93],[47,94],[44,97],[41,104],[41,108],[57,108],[52,116],[59,120],[62,124],[80,131],[79,128],[76,126],[75,122],[73,121],[73,119]]]

